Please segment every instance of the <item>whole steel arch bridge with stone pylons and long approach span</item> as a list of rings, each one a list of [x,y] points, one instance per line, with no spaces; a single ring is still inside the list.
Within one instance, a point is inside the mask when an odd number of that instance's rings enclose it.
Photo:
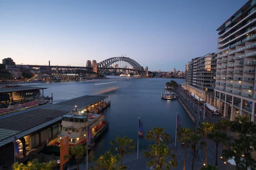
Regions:
[[[25,65],[24,65],[25,66]],[[148,77],[148,67],[145,69],[134,59],[129,57],[112,57],[109,59],[105,59],[102,62],[97,63],[96,60],[87,60],[86,66],[61,66],[61,65],[26,65],[29,69],[32,70],[48,70],[48,71],[76,71],[76,70],[84,70],[84,71],[93,71],[98,74],[101,74],[104,70],[130,70],[137,71],[138,74],[144,75]]]

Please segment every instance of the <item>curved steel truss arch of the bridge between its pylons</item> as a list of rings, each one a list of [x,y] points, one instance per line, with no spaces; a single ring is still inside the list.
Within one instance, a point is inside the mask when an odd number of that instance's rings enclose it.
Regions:
[[[134,59],[131,59],[129,57],[112,57],[109,59],[105,59],[102,62],[97,63],[97,69],[98,72],[102,72],[103,70],[107,69],[109,66],[111,66],[113,63],[118,61],[125,61],[128,62],[133,66],[133,68],[137,71],[145,71],[143,66],[141,66],[138,62],[136,62]]]

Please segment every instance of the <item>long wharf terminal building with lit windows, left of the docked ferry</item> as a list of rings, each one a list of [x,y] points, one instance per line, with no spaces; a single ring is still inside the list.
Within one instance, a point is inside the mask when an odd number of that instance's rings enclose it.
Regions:
[[[57,139],[61,132],[62,115],[80,108],[93,112],[93,108],[100,109],[105,98],[86,95],[0,116],[0,167],[11,167],[14,163],[14,133],[19,146],[18,161],[21,163],[28,159],[30,153],[40,152]]]

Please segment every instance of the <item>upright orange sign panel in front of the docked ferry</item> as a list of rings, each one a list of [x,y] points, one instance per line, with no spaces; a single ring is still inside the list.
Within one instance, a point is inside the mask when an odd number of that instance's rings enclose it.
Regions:
[[[67,170],[67,161],[68,159],[64,159],[64,155],[69,155],[68,151],[68,144],[69,144],[69,136],[64,136],[60,139],[60,160],[61,160],[61,170]]]

